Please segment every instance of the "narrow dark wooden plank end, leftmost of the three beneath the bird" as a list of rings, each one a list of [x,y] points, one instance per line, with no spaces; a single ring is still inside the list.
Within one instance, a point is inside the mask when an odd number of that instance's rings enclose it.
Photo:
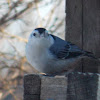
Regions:
[[[40,100],[41,79],[39,75],[24,76],[24,100]]]

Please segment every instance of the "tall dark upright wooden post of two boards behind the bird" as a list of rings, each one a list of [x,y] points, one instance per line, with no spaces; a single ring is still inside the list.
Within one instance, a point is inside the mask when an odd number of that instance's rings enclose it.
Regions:
[[[66,40],[100,58],[100,0],[66,0]],[[84,59],[78,71],[100,72],[100,62]]]

